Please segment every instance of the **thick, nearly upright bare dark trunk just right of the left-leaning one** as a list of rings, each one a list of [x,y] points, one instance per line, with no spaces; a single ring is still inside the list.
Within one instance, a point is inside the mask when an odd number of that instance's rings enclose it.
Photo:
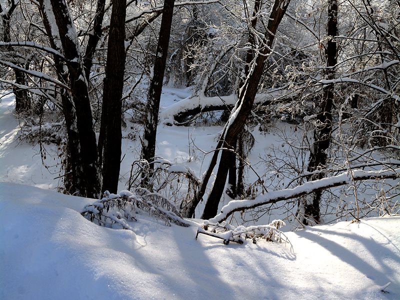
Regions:
[[[114,0],[108,36],[103,104],[107,106],[102,190],[116,193],[121,159],[122,89],[125,68],[126,0]],[[101,117],[101,121],[103,117]],[[101,152],[99,153],[101,155]]]

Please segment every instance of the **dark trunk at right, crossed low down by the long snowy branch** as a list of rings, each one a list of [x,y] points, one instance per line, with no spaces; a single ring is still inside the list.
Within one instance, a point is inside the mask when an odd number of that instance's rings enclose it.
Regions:
[[[326,77],[333,79],[335,74],[335,65],[337,62],[336,40],[337,36],[337,0],[328,1],[328,43],[325,48],[326,57]],[[334,96],[333,84],[328,84],[323,88],[319,112],[316,115],[317,125],[313,132],[313,144],[308,161],[308,172],[323,169],[327,161],[327,149],[330,144],[330,134],[332,132],[332,105]],[[320,179],[324,173],[317,172],[311,175],[308,180]],[[307,218],[313,219],[316,223],[320,222],[319,203],[321,191],[317,191],[305,196],[303,223],[308,224]]]

